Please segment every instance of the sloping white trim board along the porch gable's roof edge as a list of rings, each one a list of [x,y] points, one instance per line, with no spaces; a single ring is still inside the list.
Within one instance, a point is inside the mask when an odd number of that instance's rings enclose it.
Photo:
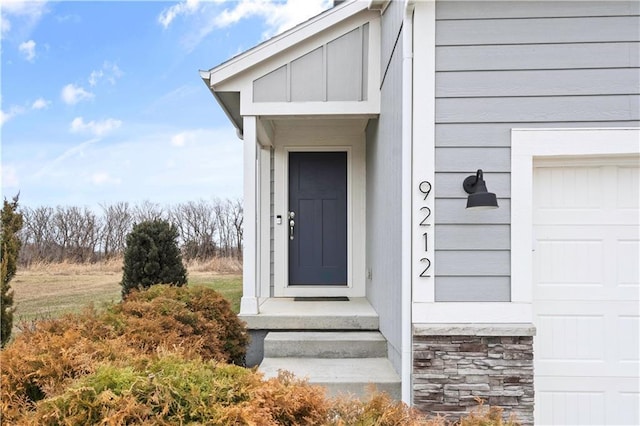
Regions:
[[[209,80],[209,87],[236,76],[247,69],[265,61],[278,53],[301,43],[308,38],[330,28],[358,12],[367,10],[368,4],[364,1],[345,2],[331,8],[324,13],[299,24],[289,31],[277,35],[270,40],[242,53],[227,62],[224,62],[211,70],[200,73],[203,79]]]

